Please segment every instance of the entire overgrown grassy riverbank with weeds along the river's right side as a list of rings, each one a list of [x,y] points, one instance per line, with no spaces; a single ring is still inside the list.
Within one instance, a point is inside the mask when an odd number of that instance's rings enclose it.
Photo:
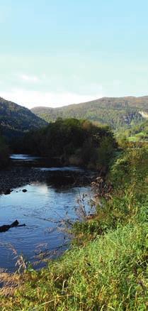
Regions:
[[[72,250],[40,271],[1,273],[0,310],[147,310],[147,176],[147,150],[123,151],[93,184],[96,217],[74,225]]]

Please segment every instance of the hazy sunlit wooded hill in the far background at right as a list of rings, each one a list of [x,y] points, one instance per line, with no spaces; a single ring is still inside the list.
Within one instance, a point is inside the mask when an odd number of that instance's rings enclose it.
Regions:
[[[71,104],[60,108],[35,107],[31,111],[45,121],[57,118],[77,118],[109,124],[113,129],[130,128],[148,114],[148,96],[103,97],[91,102]]]

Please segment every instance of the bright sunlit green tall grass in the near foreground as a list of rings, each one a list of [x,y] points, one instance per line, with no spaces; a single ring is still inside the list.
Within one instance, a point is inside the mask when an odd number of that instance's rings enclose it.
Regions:
[[[146,234],[146,224],[127,224],[25,273],[1,310],[146,310]]]

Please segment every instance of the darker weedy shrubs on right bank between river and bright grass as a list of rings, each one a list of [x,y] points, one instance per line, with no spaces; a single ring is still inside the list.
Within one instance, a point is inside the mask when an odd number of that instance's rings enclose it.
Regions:
[[[91,205],[96,206],[95,219],[74,224],[76,242],[84,244],[98,234],[116,229],[118,224],[127,224],[139,214],[147,202],[147,176],[147,149],[127,148],[120,153],[106,180],[96,178],[92,183],[96,194],[91,200]]]

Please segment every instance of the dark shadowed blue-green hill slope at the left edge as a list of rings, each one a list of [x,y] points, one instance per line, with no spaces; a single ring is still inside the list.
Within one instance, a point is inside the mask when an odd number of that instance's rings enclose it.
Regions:
[[[21,136],[46,124],[29,109],[0,97],[0,129],[4,136]]]

